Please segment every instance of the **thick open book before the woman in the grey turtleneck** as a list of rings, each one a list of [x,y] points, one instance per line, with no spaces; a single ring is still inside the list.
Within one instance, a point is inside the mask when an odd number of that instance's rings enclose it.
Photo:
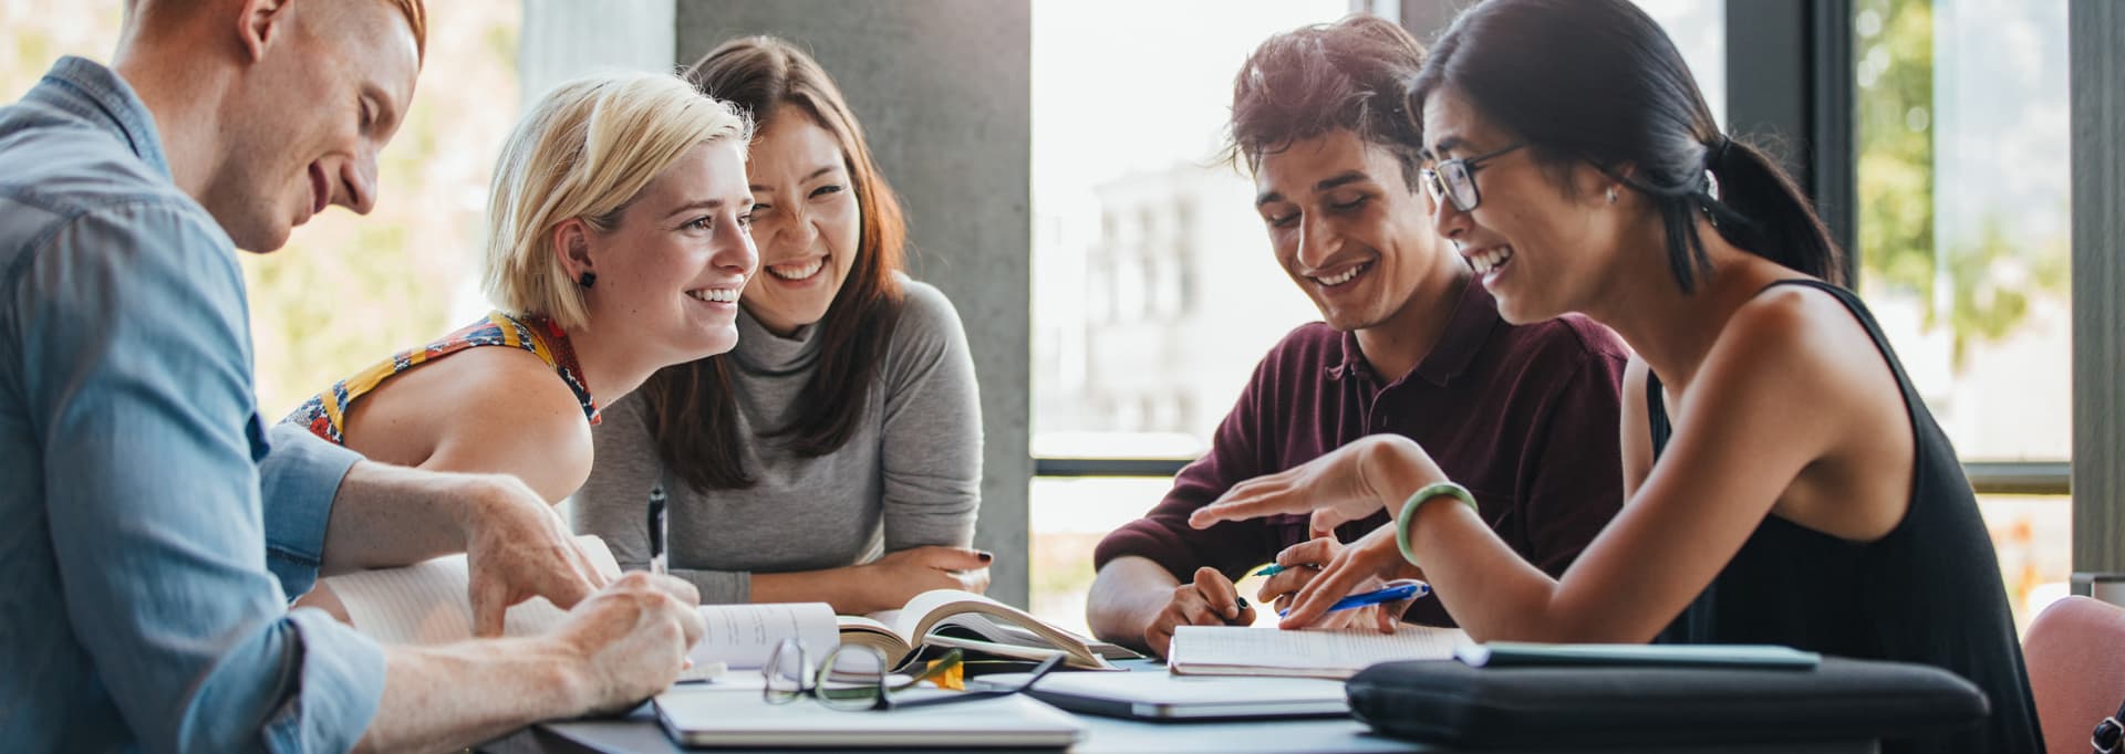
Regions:
[[[869,616],[839,616],[842,644],[863,644],[886,654],[895,667],[922,646],[960,648],[1020,661],[1062,654],[1062,665],[1116,669],[1107,661],[1141,654],[1056,629],[1024,610],[956,588],[916,595],[901,610]]]

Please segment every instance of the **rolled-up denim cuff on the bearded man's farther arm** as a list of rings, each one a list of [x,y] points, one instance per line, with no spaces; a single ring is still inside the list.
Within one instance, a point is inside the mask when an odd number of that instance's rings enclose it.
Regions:
[[[317,569],[325,563],[332,497],[361,455],[289,423],[272,425],[268,442],[272,448],[259,461],[266,567],[280,580],[283,593],[298,597],[317,584]]]

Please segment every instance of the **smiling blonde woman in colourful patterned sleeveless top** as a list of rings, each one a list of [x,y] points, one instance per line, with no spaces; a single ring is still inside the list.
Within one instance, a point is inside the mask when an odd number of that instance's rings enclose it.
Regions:
[[[591,474],[599,401],[737,344],[759,265],[750,138],[744,115],[669,74],[552,89],[495,166],[482,278],[497,308],[287,421],[376,461],[512,474],[561,501]]]

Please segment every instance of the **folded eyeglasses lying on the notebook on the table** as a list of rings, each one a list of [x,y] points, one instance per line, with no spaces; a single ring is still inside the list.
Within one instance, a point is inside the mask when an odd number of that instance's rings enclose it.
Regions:
[[[812,697],[833,709],[907,709],[946,705],[954,701],[1009,697],[1033,688],[1033,682],[1054,671],[1056,665],[1062,665],[1062,654],[1041,661],[1041,665],[1033,667],[1033,673],[1022,684],[1012,688],[965,690],[918,699],[895,697],[963,665],[965,658],[960,650],[950,650],[914,675],[895,675],[892,669],[886,667],[884,652],[861,644],[844,644],[833,652],[827,652],[827,656],[822,656],[814,667],[812,654],[805,650],[803,641],[782,639],[776,644],[776,650],[767,654],[767,665],[761,667],[761,675],[767,680],[767,686],[761,688],[761,699],[782,705]]]

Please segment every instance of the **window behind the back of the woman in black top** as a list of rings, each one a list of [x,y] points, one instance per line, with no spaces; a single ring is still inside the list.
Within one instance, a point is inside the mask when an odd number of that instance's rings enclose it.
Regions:
[[[1853,4],[1859,291],[1974,472],[2072,455],[2066,4]],[[2027,620],[2066,593],[2070,499],[1985,495]]]

